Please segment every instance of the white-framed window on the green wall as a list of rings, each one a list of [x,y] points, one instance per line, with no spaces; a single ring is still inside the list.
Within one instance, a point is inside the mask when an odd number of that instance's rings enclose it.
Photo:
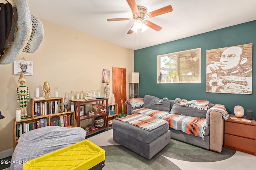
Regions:
[[[157,56],[158,83],[200,83],[201,48]]]

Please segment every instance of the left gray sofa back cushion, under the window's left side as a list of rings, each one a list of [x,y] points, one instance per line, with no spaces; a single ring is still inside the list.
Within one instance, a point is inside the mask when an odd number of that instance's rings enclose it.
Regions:
[[[170,112],[170,101],[168,98],[160,99],[155,96],[145,95],[143,102],[142,107]]]

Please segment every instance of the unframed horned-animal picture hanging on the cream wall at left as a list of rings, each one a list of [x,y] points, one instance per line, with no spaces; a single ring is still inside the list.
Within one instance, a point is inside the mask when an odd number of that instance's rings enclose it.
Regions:
[[[33,61],[26,60],[16,60],[13,62],[14,74],[20,75],[20,73],[24,73],[24,75],[33,75]]]

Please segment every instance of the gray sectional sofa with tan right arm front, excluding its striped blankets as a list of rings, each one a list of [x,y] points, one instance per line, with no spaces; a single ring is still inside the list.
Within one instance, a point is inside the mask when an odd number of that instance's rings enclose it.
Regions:
[[[168,111],[170,114],[178,113],[187,116],[202,117],[206,118],[206,110],[200,110],[193,107],[180,106],[180,98],[175,100],[162,100],[155,96],[146,95],[143,98],[143,106],[134,107],[126,102],[127,114],[137,113],[134,110],[146,107],[154,110],[164,110]],[[167,102],[166,102],[167,101]],[[214,106],[214,104],[209,104],[209,108]],[[220,105],[223,106],[223,105]],[[204,139],[202,137],[194,136],[188,133],[184,133],[181,130],[174,130],[169,127],[171,131],[171,138],[196,145],[205,149],[213,150],[216,152],[221,152],[223,145],[223,133],[224,133],[224,119],[222,113],[217,111],[210,112],[210,123],[204,129]]]

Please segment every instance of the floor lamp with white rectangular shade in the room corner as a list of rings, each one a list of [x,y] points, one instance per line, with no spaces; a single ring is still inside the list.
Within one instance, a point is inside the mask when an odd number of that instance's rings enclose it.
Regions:
[[[130,83],[130,99],[138,98],[140,94],[140,73],[131,72],[129,75]]]

